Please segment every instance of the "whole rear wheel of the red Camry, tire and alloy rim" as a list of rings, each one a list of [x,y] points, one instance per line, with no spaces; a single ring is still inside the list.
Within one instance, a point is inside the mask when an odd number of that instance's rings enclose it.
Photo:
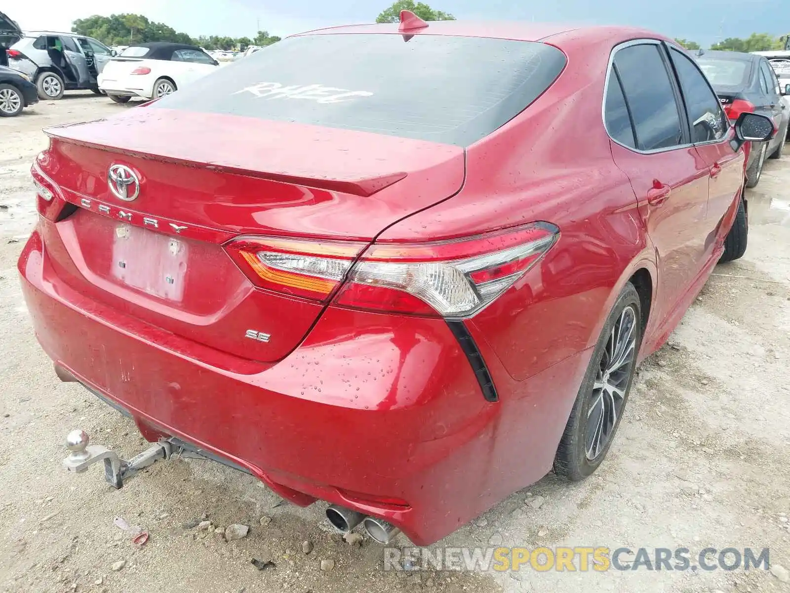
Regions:
[[[562,433],[554,469],[587,478],[604,460],[623,417],[641,344],[641,308],[630,282],[611,309]]]

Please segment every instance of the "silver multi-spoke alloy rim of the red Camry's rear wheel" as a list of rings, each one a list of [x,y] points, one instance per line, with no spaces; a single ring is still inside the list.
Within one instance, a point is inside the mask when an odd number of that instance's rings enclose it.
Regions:
[[[633,305],[623,309],[601,354],[587,406],[585,454],[596,459],[614,436],[623,410],[637,343],[637,314]]]

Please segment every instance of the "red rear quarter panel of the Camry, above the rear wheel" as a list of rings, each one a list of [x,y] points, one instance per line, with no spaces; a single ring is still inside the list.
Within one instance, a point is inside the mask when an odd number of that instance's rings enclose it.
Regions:
[[[516,380],[594,345],[634,266],[654,260],[602,121],[609,54],[621,43],[605,31],[600,40],[558,36],[566,69],[529,108],[468,148],[461,192],[378,237],[437,239],[532,221],[559,226],[547,257],[470,323]]]

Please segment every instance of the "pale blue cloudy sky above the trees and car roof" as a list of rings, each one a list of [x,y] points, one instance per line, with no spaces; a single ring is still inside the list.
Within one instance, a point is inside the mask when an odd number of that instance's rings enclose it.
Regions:
[[[424,0],[423,0],[424,1]],[[389,0],[392,2],[392,0]],[[258,30],[287,36],[313,28],[375,21],[387,0],[35,0],[2,10],[23,29],[70,31],[93,14],[134,12],[190,36],[253,37]],[[790,32],[788,0],[427,0],[465,20],[551,21],[636,25],[708,47],[752,32]],[[258,25],[259,24],[259,25]]]

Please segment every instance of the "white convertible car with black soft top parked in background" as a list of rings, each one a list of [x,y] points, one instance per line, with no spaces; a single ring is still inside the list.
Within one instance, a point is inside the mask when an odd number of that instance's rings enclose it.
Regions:
[[[139,43],[111,59],[99,75],[99,89],[116,103],[133,96],[158,99],[212,73],[219,63],[200,47],[182,43]]]

